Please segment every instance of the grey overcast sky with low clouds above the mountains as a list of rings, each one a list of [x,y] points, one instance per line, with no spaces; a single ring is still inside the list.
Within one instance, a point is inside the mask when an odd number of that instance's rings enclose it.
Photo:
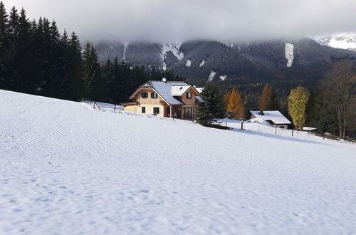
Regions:
[[[245,41],[356,31],[356,0],[2,0],[88,41]]]

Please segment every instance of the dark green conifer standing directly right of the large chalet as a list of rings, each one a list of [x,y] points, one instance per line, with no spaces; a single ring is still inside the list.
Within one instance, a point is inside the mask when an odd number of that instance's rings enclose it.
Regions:
[[[201,98],[203,102],[199,103],[197,120],[202,125],[211,124],[214,119],[224,117],[224,100],[214,83],[206,83]]]

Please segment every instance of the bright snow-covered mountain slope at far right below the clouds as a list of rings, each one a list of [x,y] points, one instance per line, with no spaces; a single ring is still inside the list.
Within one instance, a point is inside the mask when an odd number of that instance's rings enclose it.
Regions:
[[[356,51],[356,33],[334,33],[315,36],[313,39],[325,46]]]

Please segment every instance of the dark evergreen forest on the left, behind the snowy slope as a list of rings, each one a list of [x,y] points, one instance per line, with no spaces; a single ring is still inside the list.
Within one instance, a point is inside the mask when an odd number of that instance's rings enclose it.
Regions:
[[[59,33],[56,21],[30,21],[0,2],[0,89],[51,98],[122,103],[147,80],[184,80],[170,71],[146,70],[125,61],[100,66],[92,44],[75,32]]]

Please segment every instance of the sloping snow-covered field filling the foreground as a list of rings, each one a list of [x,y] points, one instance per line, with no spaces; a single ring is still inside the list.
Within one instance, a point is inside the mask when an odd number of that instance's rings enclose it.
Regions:
[[[0,104],[0,234],[356,233],[355,144]]]

